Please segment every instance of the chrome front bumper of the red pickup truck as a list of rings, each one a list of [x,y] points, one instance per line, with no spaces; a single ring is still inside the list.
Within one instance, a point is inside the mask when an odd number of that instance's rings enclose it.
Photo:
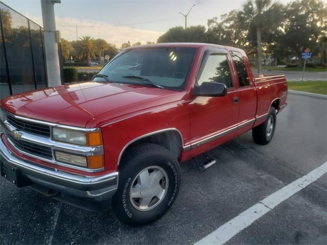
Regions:
[[[30,187],[37,191],[40,191],[38,187],[41,186],[43,189],[48,188],[57,191],[60,195],[91,199],[98,202],[110,199],[118,187],[118,172],[96,177],[82,176],[20,159],[6,147],[1,135],[0,159],[2,163],[20,169],[22,175],[31,180],[32,185]]]

